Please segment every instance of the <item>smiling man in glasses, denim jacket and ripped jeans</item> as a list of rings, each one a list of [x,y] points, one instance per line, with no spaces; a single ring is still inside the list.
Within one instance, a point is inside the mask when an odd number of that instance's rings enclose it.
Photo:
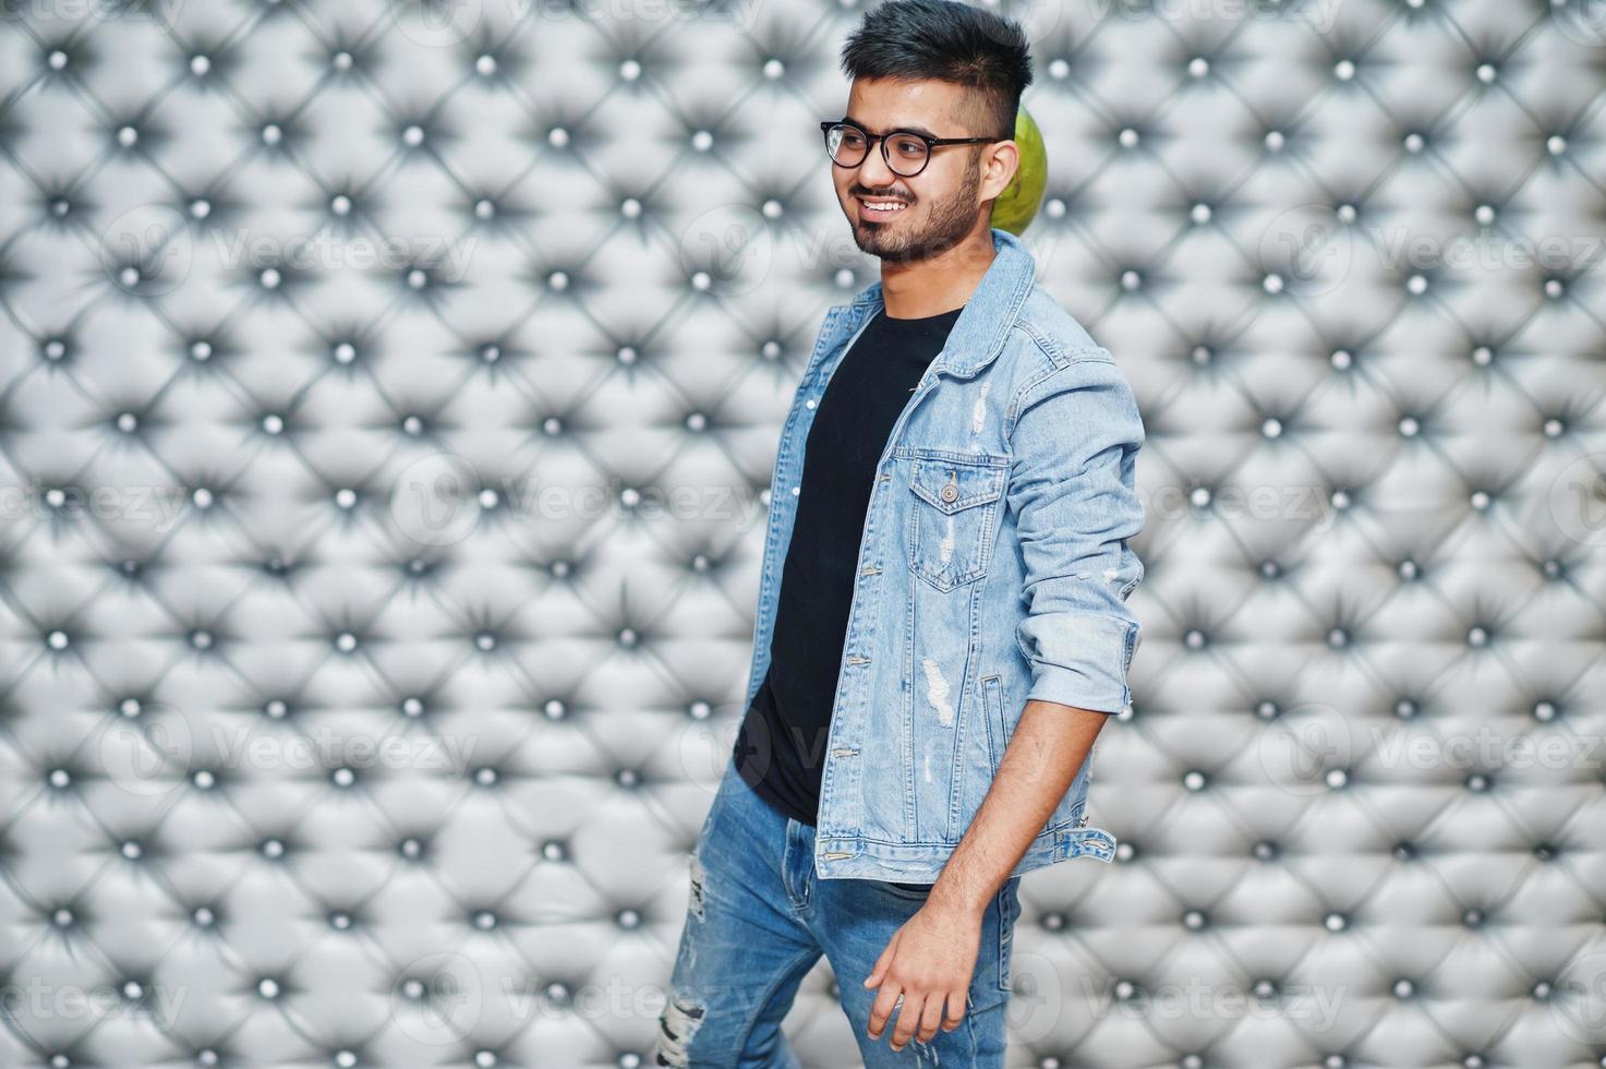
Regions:
[[[827,313],[781,436],[748,707],[691,858],[660,1066],[797,1066],[781,1022],[822,953],[866,1066],[1002,1066],[1021,874],[1115,854],[1084,810],[1139,641],[1143,426],[989,227],[1025,37],[895,0],[843,68],[825,149],[882,278]]]

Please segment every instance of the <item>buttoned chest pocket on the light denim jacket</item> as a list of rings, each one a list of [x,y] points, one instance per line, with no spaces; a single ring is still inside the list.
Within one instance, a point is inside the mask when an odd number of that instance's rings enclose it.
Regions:
[[[938,590],[988,572],[1004,466],[984,458],[915,457],[909,490],[909,567]]]

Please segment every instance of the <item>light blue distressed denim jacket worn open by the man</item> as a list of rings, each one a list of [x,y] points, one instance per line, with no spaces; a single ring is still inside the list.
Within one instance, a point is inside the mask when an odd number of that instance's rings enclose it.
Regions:
[[[1126,598],[1143,577],[1143,424],[1110,350],[996,257],[888,436],[859,545],[814,834],[821,879],[931,883],[975,817],[1025,702],[1131,699]],[[882,283],[825,313],[776,453],[747,704],[769,669],[803,447]],[[1012,876],[1113,860],[1084,815],[1092,754]]]

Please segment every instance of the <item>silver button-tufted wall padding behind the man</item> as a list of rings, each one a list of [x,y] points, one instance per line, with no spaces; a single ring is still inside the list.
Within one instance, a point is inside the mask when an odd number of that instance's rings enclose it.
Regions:
[[[858,8],[3,10],[0,1066],[646,1064]],[[1015,1063],[1606,1064],[1606,6],[1002,10],[1150,434]]]

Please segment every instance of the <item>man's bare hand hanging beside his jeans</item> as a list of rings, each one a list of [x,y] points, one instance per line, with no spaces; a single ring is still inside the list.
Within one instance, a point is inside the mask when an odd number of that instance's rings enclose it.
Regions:
[[[964,1022],[970,977],[981,948],[981,918],[959,910],[943,910],[933,902],[920,907],[893,932],[875,968],[864,977],[869,989],[880,987],[866,1032],[882,1037],[898,995],[903,1010],[893,1029],[891,1048],[903,1050],[911,1035],[930,1043],[938,1026],[952,1032]],[[943,1010],[948,1010],[946,1016]]]

